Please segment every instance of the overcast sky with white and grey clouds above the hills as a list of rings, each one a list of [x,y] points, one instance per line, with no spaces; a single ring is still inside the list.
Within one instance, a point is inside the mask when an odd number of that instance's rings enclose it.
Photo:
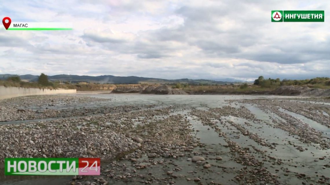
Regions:
[[[325,22],[271,22],[271,10],[324,10]],[[0,14],[73,23],[71,31],[2,27],[0,74],[330,76],[328,0],[10,0]]]

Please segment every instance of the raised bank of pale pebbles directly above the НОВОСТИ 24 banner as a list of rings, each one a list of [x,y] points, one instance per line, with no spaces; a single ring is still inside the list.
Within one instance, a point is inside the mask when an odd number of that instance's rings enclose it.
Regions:
[[[137,148],[123,134],[97,127],[73,127],[69,123],[18,124],[0,126],[0,159],[6,157],[100,157]]]

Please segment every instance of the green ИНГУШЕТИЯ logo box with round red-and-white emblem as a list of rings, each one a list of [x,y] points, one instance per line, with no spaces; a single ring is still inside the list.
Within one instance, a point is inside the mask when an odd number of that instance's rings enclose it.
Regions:
[[[272,22],[324,22],[323,10],[273,10]]]

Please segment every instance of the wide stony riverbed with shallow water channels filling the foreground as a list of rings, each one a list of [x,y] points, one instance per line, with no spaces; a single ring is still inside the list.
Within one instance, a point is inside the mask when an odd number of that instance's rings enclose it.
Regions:
[[[1,163],[6,157],[100,157],[101,175],[2,176],[0,184],[330,184],[329,115],[326,98],[1,100]]]

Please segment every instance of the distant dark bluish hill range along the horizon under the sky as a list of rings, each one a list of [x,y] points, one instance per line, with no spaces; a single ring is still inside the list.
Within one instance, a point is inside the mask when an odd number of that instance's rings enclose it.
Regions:
[[[13,74],[0,74],[0,80],[5,80],[11,76],[19,76],[21,80],[35,82],[38,79],[37,75],[13,75]],[[149,84],[166,84],[166,83],[191,83],[191,84],[228,84],[234,82],[244,82],[241,80],[236,80],[233,78],[225,78],[225,79],[217,79],[217,80],[206,80],[206,79],[198,79],[192,80],[188,78],[184,79],[176,79],[176,80],[167,80],[160,78],[146,78],[146,77],[138,77],[138,76],[113,76],[113,75],[102,75],[102,76],[79,76],[79,75],[54,75],[48,76],[50,81],[70,81],[71,83],[79,83],[79,82],[89,82],[89,83],[101,83],[101,84],[139,84],[139,83],[149,83]]]

